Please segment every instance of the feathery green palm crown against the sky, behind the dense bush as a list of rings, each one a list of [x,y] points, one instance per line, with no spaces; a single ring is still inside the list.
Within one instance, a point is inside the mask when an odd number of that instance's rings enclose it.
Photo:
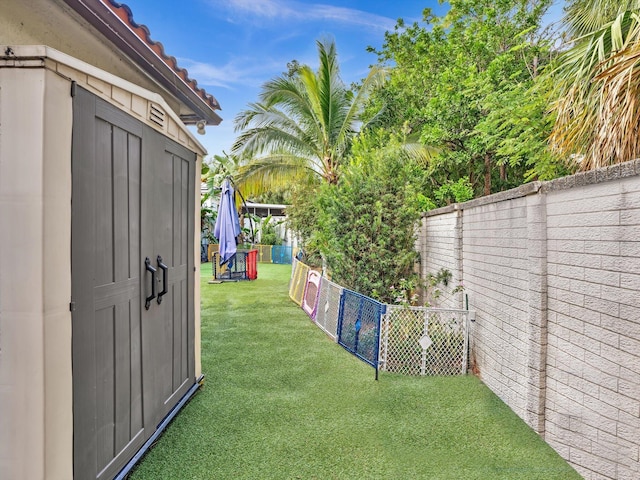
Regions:
[[[300,178],[336,183],[353,137],[366,126],[364,104],[385,70],[371,68],[351,91],[340,78],[334,41],[316,43],[317,72],[291,64],[293,72],[268,81],[259,102],[235,119],[240,135],[232,153],[246,159],[238,178],[245,194]]]

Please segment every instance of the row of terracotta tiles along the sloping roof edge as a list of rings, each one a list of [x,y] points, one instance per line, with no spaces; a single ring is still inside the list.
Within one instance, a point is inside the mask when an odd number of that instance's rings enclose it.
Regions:
[[[171,69],[178,77],[180,77],[189,88],[193,90],[210,108],[220,110],[220,104],[215,97],[207,93],[203,88],[198,87],[198,82],[189,78],[189,72],[185,68],[178,66],[175,57],[167,55],[164,46],[160,42],[156,42],[151,38],[151,34],[146,25],[138,24],[133,19],[133,12],[128,5],[118,3],[115,0],[101,0],[132,32],[136,34],[140,40],[149,46],[149,48]]]

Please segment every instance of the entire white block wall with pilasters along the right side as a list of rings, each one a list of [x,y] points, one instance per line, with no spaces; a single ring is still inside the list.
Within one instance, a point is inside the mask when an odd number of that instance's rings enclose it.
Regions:
[[[423,219],[427,261],[456,270],[477,312],[473,370],[587,479],[640,478],[638,173],[630,162]],[[456,242],[457,261],[441,249]]]

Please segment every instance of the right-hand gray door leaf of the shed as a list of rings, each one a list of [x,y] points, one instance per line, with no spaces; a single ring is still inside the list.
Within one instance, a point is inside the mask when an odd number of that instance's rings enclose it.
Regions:
[[[167,294],[161,303],[152,302],[151,308],[143,312],[144,322],[149,322],[148,351],[154,370],[149,372],[149,405],[159,423],[178,400],[194,383],[194,312],[193,302],[193,201],[195,195],[192,152],[167,140],[155,136],[145,150],[153,165],[153,177],[145,177],[143,184],[153,184],[152,192],[145,196],[143,219],[143,256],[162,262],[167,266]],[[162,159],[162,161],[158,161]],[[155,160],[155,161],[154,161]],[[158,286],[165,285],[161,269],[158,268]],[[149,275],[147,274],[146,277]],[[146,284],[149,284],[147,278]],[[147,290],[148,294],[148,290]]]

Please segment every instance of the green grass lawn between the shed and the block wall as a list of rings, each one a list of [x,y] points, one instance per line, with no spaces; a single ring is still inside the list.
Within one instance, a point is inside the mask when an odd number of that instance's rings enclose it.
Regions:
[[[473,376],[376,382],[289,300],[290,266],[207,267],[205,386],[131,480],[581,478]]]

